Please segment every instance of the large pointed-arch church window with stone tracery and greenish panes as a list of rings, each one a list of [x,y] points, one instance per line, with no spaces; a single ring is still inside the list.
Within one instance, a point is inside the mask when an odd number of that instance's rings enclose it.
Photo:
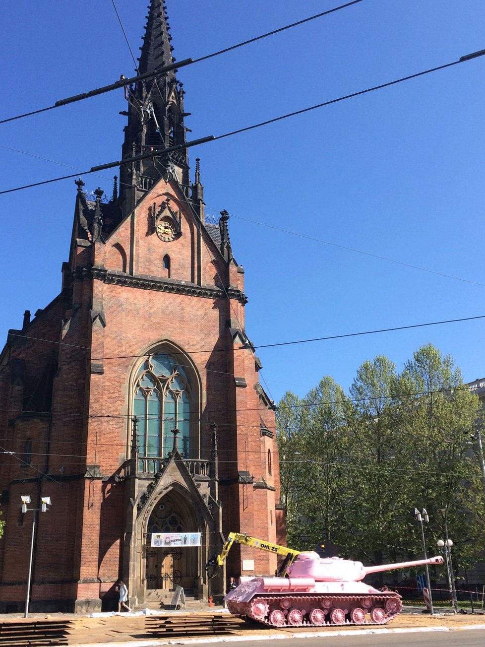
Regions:
[[[136,375],[133,399],[140,457],[166,457],[173,448],[174,429],[180,432],[178,451],[190,457],[190,404],[184,367],[166,353],[149,357]]]

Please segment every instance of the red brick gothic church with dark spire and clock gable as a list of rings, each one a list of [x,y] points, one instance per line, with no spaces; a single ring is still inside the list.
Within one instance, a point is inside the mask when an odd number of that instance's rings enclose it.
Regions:
[[[170,41],[151,0],[140,74],[173,63]],[[235,547],[210,580],[228,532],[285,541],[274,406],[228,214],[206,220],[198,159],[191,182],[175,71],[127,98],[119,190],[76,181],[61,291],[0,355],[0,612],[24,608],[32,536],[31,611],[111,608],[118,578],[131,604],[175,586],[217,597],[230,575],[275,569]]]

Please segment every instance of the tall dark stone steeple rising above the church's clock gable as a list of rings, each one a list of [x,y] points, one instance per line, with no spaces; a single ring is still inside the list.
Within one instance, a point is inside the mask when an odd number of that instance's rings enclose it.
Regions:
[[[144,74],[171,65],[173,47],[170,44],[166,6],[162,0],[151,0],[138,72]],[[175,71],[162,72],[151,79],[135,83],[127,91],[128,116],[125,127],[123,157],[132,157],[151,150],[180,146],[186,143],[184,127],[184,91],[175,78]],[[154,155],[120,169],[120,199],[124,215],[129,214],[147,190],[160,177],[175,178],[189,194],[189,164],[187,149]]]

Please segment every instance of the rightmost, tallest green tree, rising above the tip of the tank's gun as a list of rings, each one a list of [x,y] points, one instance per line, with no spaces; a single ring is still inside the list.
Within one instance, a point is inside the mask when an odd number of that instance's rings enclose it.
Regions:
[[[469,569],[479,560],[484,542],[484,491],[479,463],[471,451],[479,401],[469,393],[449,355],[427,344],[405,364],[402,428],[411,449],[416,478],[413,499],[430,517],[429,545],[444,537],[440,510],[447,510],[449,536],[457,565]],[[419,549],[415,527],[411,549]],[[430,547],[431,551],[431,547]]]

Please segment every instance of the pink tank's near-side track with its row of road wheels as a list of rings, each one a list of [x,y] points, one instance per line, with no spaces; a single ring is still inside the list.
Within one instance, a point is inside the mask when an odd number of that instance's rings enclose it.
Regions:
[[[230,613],[270,627],[386,624],[400,613],[397,593],[367,595],[285,595],[259,593],[249,602],[227,601]]]

